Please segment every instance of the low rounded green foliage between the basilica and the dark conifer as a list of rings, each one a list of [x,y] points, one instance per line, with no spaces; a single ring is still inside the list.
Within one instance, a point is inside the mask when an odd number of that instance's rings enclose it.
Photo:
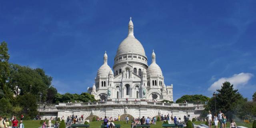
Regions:
[[[176,103],[184,103],[185,100],[188,103],[204,104],[206,101],[210,100],[210,98],[203,95],[184,95],[178,100],[176,100]]]

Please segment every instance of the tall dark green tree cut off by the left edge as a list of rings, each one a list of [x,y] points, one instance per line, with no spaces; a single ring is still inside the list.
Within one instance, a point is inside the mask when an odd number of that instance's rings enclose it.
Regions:
[[[9,58],[10,58],[10,55],[8,54],[7,43],[2,42],[0,44],[0,92],[2,93],[5,92],[4,86],[6,86],[6,82],[10,75],[10,70],[8,65]]]

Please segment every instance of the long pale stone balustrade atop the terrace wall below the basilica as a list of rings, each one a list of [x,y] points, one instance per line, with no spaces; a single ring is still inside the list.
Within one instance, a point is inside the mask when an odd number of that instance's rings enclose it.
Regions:
[[[74,107],[74,106],[98,106],[98,105],[129,105],[129,104],[136,104],[136,105],[148,105],[148,106],[166,106],[166,107],[179,107],[179,108],[186,108],[186,107],[196,107],[194,104],[176,104],[176,103],[162,103],[162,102],[146,102],[146,101],[107,101],[107,102],[89,102],[89,103],[59,103],[59,107]]]

